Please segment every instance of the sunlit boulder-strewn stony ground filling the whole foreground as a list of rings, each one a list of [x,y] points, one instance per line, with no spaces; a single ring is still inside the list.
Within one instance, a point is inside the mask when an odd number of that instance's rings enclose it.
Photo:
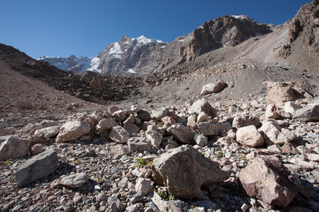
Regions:
[[[152,111],[1,118],[0,211],[318,211],[318,97],[268,83],[209,102],[216,86]]]

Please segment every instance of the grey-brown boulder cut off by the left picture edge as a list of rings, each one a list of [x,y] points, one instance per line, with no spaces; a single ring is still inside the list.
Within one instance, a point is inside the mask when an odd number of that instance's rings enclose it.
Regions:
[[[28,154],[30,141],[17,136],[9,136],[0,146],[0,161],[18,159]]]

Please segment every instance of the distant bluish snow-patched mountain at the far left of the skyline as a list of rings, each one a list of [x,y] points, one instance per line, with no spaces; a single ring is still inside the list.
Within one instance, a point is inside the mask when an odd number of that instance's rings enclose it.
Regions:
[[[57,67],[65,71],[73,71],[74,73],[84,72],[92,69],[94,61],[89,57],[77,57],[71,55],[69,57],[47,57],[42,56],[38,60],[47,61],[51,66]]]

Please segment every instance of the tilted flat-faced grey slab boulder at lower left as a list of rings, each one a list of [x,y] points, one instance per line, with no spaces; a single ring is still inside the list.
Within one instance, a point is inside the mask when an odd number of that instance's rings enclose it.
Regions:
[[[59,160],[54,148],[33,156],[16,168],[16,181],[18,187],[52,174],[59,166]]]

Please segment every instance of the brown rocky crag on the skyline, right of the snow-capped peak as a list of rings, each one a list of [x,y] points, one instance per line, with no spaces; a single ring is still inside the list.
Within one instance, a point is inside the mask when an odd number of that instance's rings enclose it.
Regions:
[[[194,30],[181,56],[191,60],[214,49],[233,47],[250,37],[271,32],[269,25],[259,24],[247,16],[222,16],[204,22]]]

